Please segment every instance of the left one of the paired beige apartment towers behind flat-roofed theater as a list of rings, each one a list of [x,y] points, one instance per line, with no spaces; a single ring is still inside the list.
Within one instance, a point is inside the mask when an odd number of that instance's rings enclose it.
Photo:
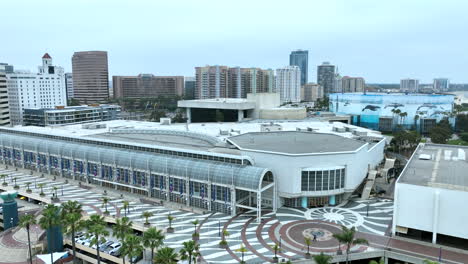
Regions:
[[[227,98],[227,66],[195,67],[195,99]]]

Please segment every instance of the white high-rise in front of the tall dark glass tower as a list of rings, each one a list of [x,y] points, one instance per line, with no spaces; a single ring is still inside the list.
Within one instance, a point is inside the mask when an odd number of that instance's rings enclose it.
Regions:
[[[286,66],[276,70],[276,91],[281,103],[301,101],[301,70],[298,66]]]

